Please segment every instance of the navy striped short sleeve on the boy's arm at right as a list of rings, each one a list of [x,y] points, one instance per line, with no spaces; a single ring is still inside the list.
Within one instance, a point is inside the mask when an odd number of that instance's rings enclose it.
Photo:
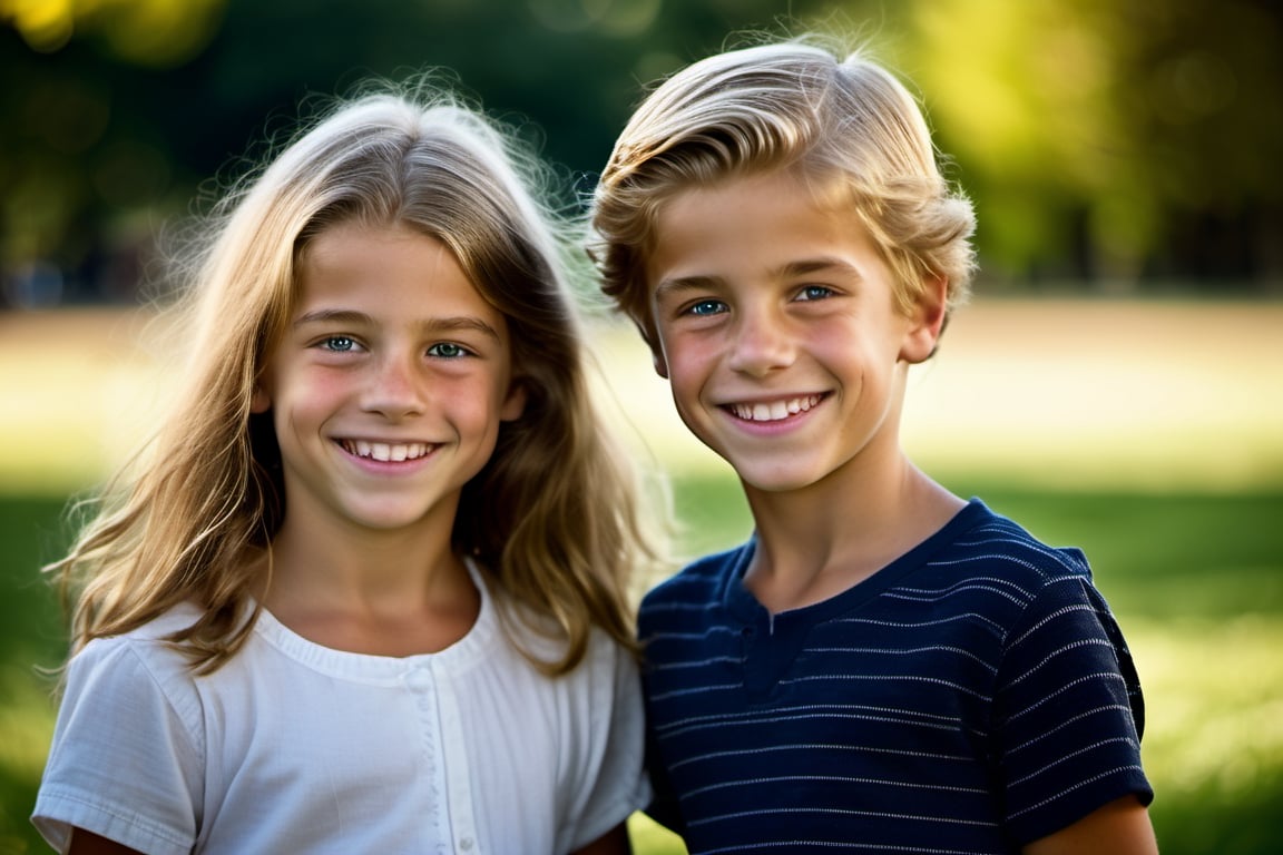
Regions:
[[[1038,592],[1007,640],[996,700],[1007,820],[1019,842],[1126,795],[1152,800],[1141,767],[1141,686],[1088,576],[1056,576]]]

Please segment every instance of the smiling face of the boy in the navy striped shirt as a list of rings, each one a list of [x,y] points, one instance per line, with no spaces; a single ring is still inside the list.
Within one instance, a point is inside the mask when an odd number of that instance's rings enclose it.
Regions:
[[[935,346],[944,283],[898,311],[853,212],[819,206],[786,172],[681,192],[647,286],[656,369],[747,487],[802,490],[898,455],[906,365]]]

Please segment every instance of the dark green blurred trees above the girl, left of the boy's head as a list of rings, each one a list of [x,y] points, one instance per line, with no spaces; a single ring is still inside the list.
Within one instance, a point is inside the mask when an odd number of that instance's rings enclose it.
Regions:
[[[372,76],[452,69],[550,160],[591,172],[643,81],[771,23],[775,5],[0,0],[0,268],[62,270],[63,299],[128,296],[136,265],[104,256],[149,246],[201,182],[293,129],[308,96]]]

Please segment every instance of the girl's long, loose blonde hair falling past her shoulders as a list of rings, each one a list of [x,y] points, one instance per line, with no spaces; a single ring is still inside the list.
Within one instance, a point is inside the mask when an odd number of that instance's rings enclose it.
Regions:
[[[63,560],[73,652],[182,601],[201,617],[169,641],[199,673],[221,667],[257,617],[250,558],[285,513],[269,414],[255,381],[290,317],[308,242],[346,222],[436,237],[503,315],[523,415],[464,487],[454,549],[565,641],[572,669],[593,627],[633,645],[627,576],[657,558],[629,456],[590,399],[582,329],[540,165],[513,135],[431,81],[340,101],[214,212],[182,311],[191,361],[168,418]],[[549,620],[550,618],[550,620]]]

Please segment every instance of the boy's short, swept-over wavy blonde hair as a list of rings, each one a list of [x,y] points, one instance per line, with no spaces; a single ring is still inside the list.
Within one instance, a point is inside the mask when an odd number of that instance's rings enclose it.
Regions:
[[[789,169],[817,201],[851,205],[896,274],[908,310],[928,277],[964,303],[975,214],[940,172],[915,97],[862,51],[817,37],[703,59],[659,85],[620,135],[591,206],[602,291],[656,347],[645,265],[663,204],[727,177]]]

